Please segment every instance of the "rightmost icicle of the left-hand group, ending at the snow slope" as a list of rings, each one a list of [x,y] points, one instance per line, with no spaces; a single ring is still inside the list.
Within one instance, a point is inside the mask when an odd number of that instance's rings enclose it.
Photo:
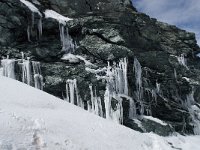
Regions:
[[[32,61],[35,88],[43,90],[43,76],[41,75],[40,62]]]

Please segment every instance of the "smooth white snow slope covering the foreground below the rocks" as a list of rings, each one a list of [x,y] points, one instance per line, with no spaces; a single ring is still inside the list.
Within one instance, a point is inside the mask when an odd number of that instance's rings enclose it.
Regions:
[[[0,150],[199,150],[200,136],[142,134],[0,77]]]

